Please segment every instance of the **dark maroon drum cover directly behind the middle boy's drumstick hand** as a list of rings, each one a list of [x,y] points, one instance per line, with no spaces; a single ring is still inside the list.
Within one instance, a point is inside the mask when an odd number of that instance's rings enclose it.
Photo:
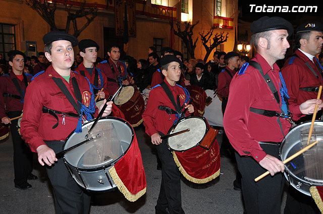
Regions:
[[[206,105],[206,93],[198,86],[186,86],[187,91],[190,93],[190,98],[192,100],[192,105],[194,106],[194,116],[202,116],[205,111]]]

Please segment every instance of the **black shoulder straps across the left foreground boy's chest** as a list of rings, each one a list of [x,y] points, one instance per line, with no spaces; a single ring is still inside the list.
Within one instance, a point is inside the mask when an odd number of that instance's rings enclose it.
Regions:
[[[74,109],[76,110],[76,112],[78,113],[78,115],[81,115],[81,110],[80,110],[79,104],[75,102],[73,96],[71,95],[71,93],[69,92],[69,90],[66,88],[66,86],[63,83],[62,79],[53,77],[52,80],[56,83],[56,85],[65,94],[66,98],[72,104],[72,106],[74,107]],[[73,88],[74,88],[75,97],[76,97],[76,99],[78,101],[81,102],[81,100],[82,100],[81,92],[80,92],[80,88],[79,88],[79,86],[78,86],[77,81],[76,81],[75,78],[72,78],[72,84],[73,84]]]

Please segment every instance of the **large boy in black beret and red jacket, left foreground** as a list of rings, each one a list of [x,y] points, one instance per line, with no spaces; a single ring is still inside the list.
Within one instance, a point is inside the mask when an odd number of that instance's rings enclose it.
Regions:
[[[64,140],[74,129],[82,131],[82,118],[90,120],[90,114],[97,116],[93,89],[87,79],[71,71],[77,38],[53,31],[45,34],[43,41],[45,56],[51,65],[38,73],[28,86],[21,133],[31,151],[38,154],[38,162],[49,166],[46,171],[56,212],[88,213],[90,196],[73,180],[56,153],[62,151]],[[108,102],[102,116],[109,115],[111,109],[112,102]]]

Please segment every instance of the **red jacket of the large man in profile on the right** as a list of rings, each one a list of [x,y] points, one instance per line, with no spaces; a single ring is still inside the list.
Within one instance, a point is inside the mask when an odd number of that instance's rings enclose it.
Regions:
[[[272,69],[258,53],[252,60],[261,65],[264,74],[269,74],[279,92],[281,81],[278,65],[274,64],[274,69]],[[241,156],[252,156],[259,163],[266,153],[261,149],[258,141],[281,142],[283,140],[284,135],[277,117],[267,117],[249,110],[253,107],[281,112],[280,106],[256,68],[248,65],[244,72],[241,68],[240,72],[233,77],[223,126],[230,143]],[[290,106],[290,111],[295,120],[302,116],[299,106]],[[286,135],[291,124],[283,118],[280,118],[280,121]]]

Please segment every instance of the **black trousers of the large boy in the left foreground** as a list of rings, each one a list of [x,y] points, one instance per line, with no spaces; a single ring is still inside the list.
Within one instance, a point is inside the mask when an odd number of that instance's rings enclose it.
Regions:
[[[45,143],[55,153],[62,151],[63,142],[61,141],[45,141]],[[91,196],[85,193],[74,181],[63,162],[63,158],[51,167],[47,167],[46,171],[53,189],[57,214],[89,213]]]

